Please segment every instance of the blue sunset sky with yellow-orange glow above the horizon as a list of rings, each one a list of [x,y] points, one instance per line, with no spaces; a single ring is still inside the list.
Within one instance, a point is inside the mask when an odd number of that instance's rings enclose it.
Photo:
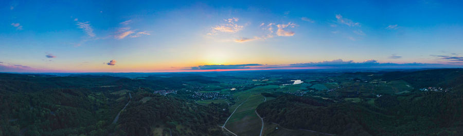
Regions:
[[[463,67],[461,1],[1,1],[0,72]]]

